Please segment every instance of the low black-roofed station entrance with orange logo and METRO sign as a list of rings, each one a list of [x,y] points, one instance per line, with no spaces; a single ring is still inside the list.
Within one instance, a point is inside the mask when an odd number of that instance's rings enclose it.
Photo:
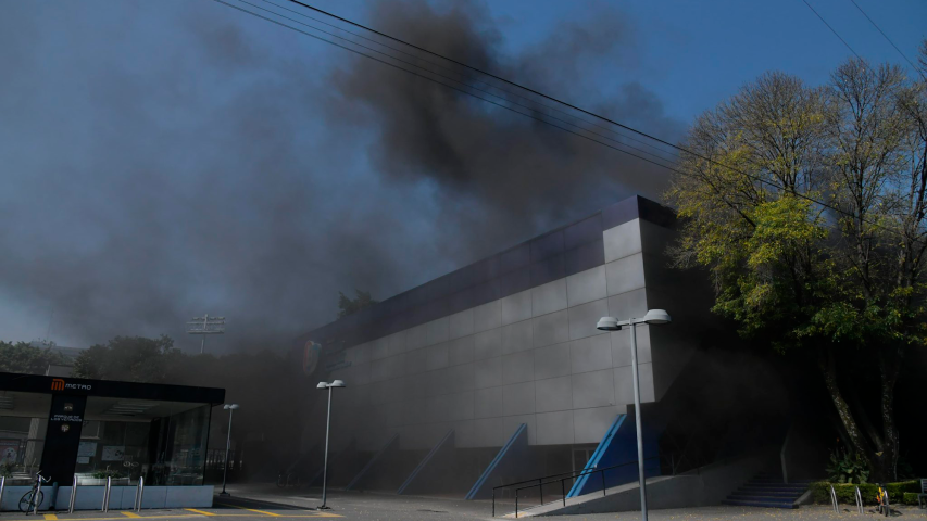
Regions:
[[[0,473],[71,486],[203,485],[225,390],[0,373]]]

